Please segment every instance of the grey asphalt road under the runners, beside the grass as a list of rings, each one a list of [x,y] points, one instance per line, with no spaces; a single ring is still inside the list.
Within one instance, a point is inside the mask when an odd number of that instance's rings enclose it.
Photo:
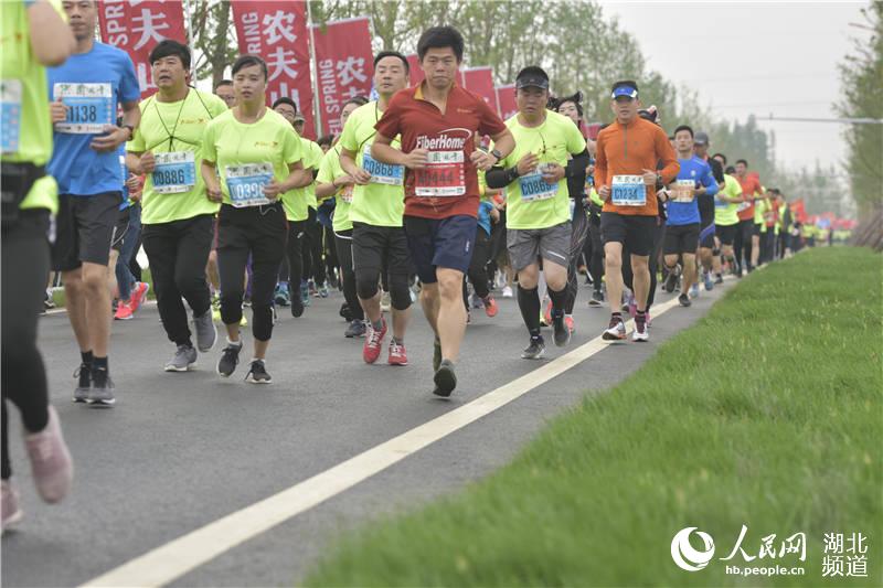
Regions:
[[[334,537],[390,512],[455,492],[504,464],[543,424],[588,392],[626,377],[659,342],[701,318],[728,287],[702,292],[689,309],[653,320],[649,344],[606,349],[517,400],[428,446],[318,506],[181,576],[174,586],[291,586]],[[600,334],[609,314],[586,306],[568,349]],[[670,296],[661,293],[657,303]],[[526,343],[515,301],[498,298],[494,319],[474,311],[451,400],[432,394],[432,336],[414,308],[405,344],[411,365],[365,365],[362,340],[343,338],[340,296],[315,299],[300,319],[287,309],[274,332],[267,368],[274,383],[230,379],[214,372],[220,345],[196,370],[162,372],[174,349],[156,307],[116,322],[110,371],[117,405],[95,409],[70,402],[79,362],[64,313],[41,320],[53,404],[75,461],[74,488],[60,505],[40,502],[19,441],[13,409],[13,480],[25,513],[2,539],[2,584],[78,586],[181,535],[357,456],[396,435],[535,370],[521,360]],[[547,331],[546,331],[547,332]],[[249,357],[251,334],[243,360]],[[549,362],[568,349],[551,344]],[[221,339],[219,339],[221,341]],[[384,363],[382,363],[384,362]]]

